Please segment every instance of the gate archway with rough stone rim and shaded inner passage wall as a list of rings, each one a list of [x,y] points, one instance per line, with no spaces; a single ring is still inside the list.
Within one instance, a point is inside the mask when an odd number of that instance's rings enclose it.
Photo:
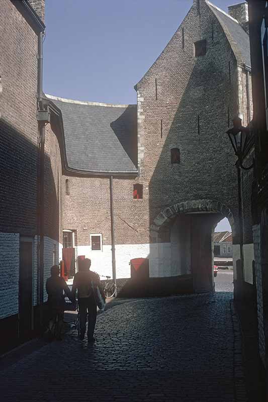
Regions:
[[[182,219],[182,217],[184,218]],[[212,232],[214,232],[216,224],[225,217],[234,231],[233,214],[225,204],[218,200],[196,199],[175,203],[164,208],[150,226],[152,243],[162,243],[166,233],[169,234],[169,240],[165,238],[165,241],[170,242],[171,272],[181,272],[182,274],[183,267],[177,261],[180,258],[184,261],[191,260],[190,271],[196,292],[214,289]],[[176,228],[179,228],[179,231],[172,236],[172,230],[177,230]],[[187,247],[186,237],[190,239]],[[180,239],[183,239],[182,244],[180,244],[182,241]],[[188,249],[188,255],[186,255],[186,249]],[[158,271],[159,264],[163,266],[165,263],[164,259],[161,262],[160,258],[152,260],[152,264],[158,265]],[[151,265],[150,272],[153,273],[153,269],[154,267]]]

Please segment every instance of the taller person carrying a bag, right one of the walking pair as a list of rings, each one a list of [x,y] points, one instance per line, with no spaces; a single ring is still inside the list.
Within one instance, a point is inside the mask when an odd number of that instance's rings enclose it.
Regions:
[[[88,315],[87,338],[88,342],[94,342],[94,329],[97,320],[97,304],[94,296],[93,286],[100,286],[100,279],[95,272],[90,270],[90,267],[91,260],[89,258],[79,261],[79,270],[73,278],[72,297],[75,298],[77,290],[80,315],[80,339],[84,339],[86,315]]]

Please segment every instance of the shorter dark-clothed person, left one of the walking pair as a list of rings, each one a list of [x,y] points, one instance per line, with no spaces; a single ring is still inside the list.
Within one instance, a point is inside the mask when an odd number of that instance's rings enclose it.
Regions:
[[[48,328],[52,332],[52,328],[56,323],[56,338],[62,339],[63,318],[64,318],[64,294],[72,301],[71,291],[68,288],[64,278],[59,276],[58,265],[53,265],[50,269],[51,276],[46,281],[46,291],[48,294],[49,308],[49,325]]]

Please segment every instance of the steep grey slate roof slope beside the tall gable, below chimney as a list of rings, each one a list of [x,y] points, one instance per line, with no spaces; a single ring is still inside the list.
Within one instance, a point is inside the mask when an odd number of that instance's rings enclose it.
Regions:
[[[249,36],[247,33],[234,18],[228,16],[208,0],[206,0],[206,3],[221,24],[238,62],[251,66]]]

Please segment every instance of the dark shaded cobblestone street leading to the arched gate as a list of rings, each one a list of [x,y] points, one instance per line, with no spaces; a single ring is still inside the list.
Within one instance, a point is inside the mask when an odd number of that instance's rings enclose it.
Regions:
[[[246,400],[231,292],[118,299],[97,341],[70,331],[2,368],[2,400]]]

